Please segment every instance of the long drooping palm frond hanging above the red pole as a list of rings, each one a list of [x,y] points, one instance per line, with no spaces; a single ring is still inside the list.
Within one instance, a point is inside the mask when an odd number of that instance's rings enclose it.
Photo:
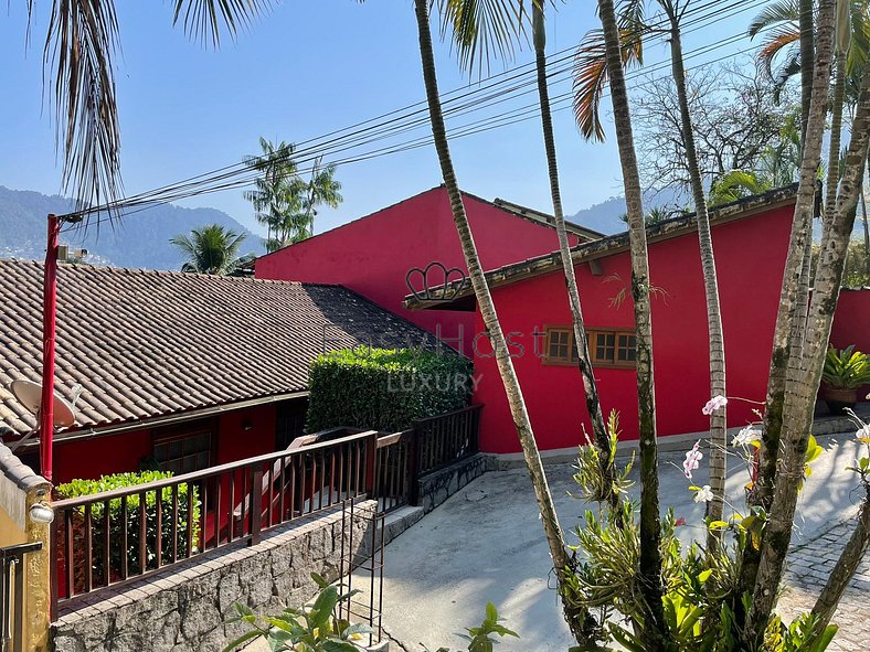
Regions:
[[[33,0],[28,2],[31,14]],[[120,130],[114,55],[118,22],[112,2],[53,0],[43,49],[44,82],[53,87],[62,186],[82,205],[120,195]]]

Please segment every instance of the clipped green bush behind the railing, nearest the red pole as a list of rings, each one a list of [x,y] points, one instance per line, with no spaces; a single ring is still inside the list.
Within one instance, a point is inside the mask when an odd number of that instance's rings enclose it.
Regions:
[[[57,495],[61,499],[78,498],[83,495],[93,495],[104,491],[113,491],[115,489],[124,489],[127,487],[137,487],[146,482],[153,482],[156,480],[163,480],[171,478],[171,472],[163,471],[141,471],[138,473],[116,473],[114,475],[103,475],[98,480],[73,480],[66,484],[57,487]],[[193,530],[193,549],[194,553],[198,547],[199,541],[199,523],[200,523],[200,502],[199,489],[187,483],[178,487],[178,517],[176,519],[177,537],[177,557],[183,558],[188,554],[188,491],[193,491],[193,514],[192,514],[192,530]],[[139,511],[139,494],[135,493],[127,496],[127,549],[121,551],[121,532],[125,520],[121,514],[121,499],[113,499],[108,502],[109,507],[109,579],[115,581],[118,579],[121,566],[121,555],[127,555],[127,573],[135,575],[157,567],[157,491],[149,491],[145,496],[145,536],[146,536],[146,559],[140,557],[139,542],[140,542],[140,524],[141,516]],[[106,569],[104,568],[104,542],[106,541],[105,532],[105,503],[96,502],[91,506],[91,522],[92,522],[92,554],[93,567],[92,573],[94,582],[96,585],[106,584]],[[170,564],[172,562],[172,488],[166,487],[160,490],[160,515],[161,515],[161,532],[160,532],[160,547],[161,547],[161,565]],[[75,576],[75,589],[83,590],[84,571],[85,571],[85,557],[84,557],[84,536],[85,536],[85,509],[78,507],[73,513],[73,564]],[[64,524],[61,524],[62,528]],[[65,533],[64,533],[65,534]],[[63,539],[62,539],[63,541]],[[63,548],[63,546],[62,546]]]

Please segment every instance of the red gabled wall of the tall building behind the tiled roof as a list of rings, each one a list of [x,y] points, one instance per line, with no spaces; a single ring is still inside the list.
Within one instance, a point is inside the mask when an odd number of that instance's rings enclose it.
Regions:
[[[465,196],[465,209],[484,269],[494,269],[559,248],[553,228],[492,204]],[[570,236],[572,244],[577,242]],[[447,192],[434,188],[382,211],[258,258],[257,278],[336,284],[431,332],[441,324],[445,339],[458,336],[469,351],[474,317],[450,311],[410,311],[405,275],[437,260],[466,270]],[[447,342],[452,344],[452,342]],[[456,346],[458,348],[458,346]]]

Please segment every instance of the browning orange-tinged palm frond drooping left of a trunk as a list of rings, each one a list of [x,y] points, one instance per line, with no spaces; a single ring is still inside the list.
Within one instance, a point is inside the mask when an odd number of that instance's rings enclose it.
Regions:
[[[623,67],[641,65],[644,30],[643,23],[634,29],[620,29],[619,40]],[[586,140],[604,140],[601,120],[601,98],[607,84],[607,54],[601,30],[586,33],[574,56],[574,118],[581,135]]]

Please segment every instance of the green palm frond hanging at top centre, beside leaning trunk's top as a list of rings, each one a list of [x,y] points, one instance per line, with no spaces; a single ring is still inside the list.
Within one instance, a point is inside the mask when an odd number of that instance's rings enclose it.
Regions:
[[[547,0],[438,0],[441,35],[448,35],[463,68],[478,74],[494,57],[513,58],[526,34],[527,3],[543,7]]]

